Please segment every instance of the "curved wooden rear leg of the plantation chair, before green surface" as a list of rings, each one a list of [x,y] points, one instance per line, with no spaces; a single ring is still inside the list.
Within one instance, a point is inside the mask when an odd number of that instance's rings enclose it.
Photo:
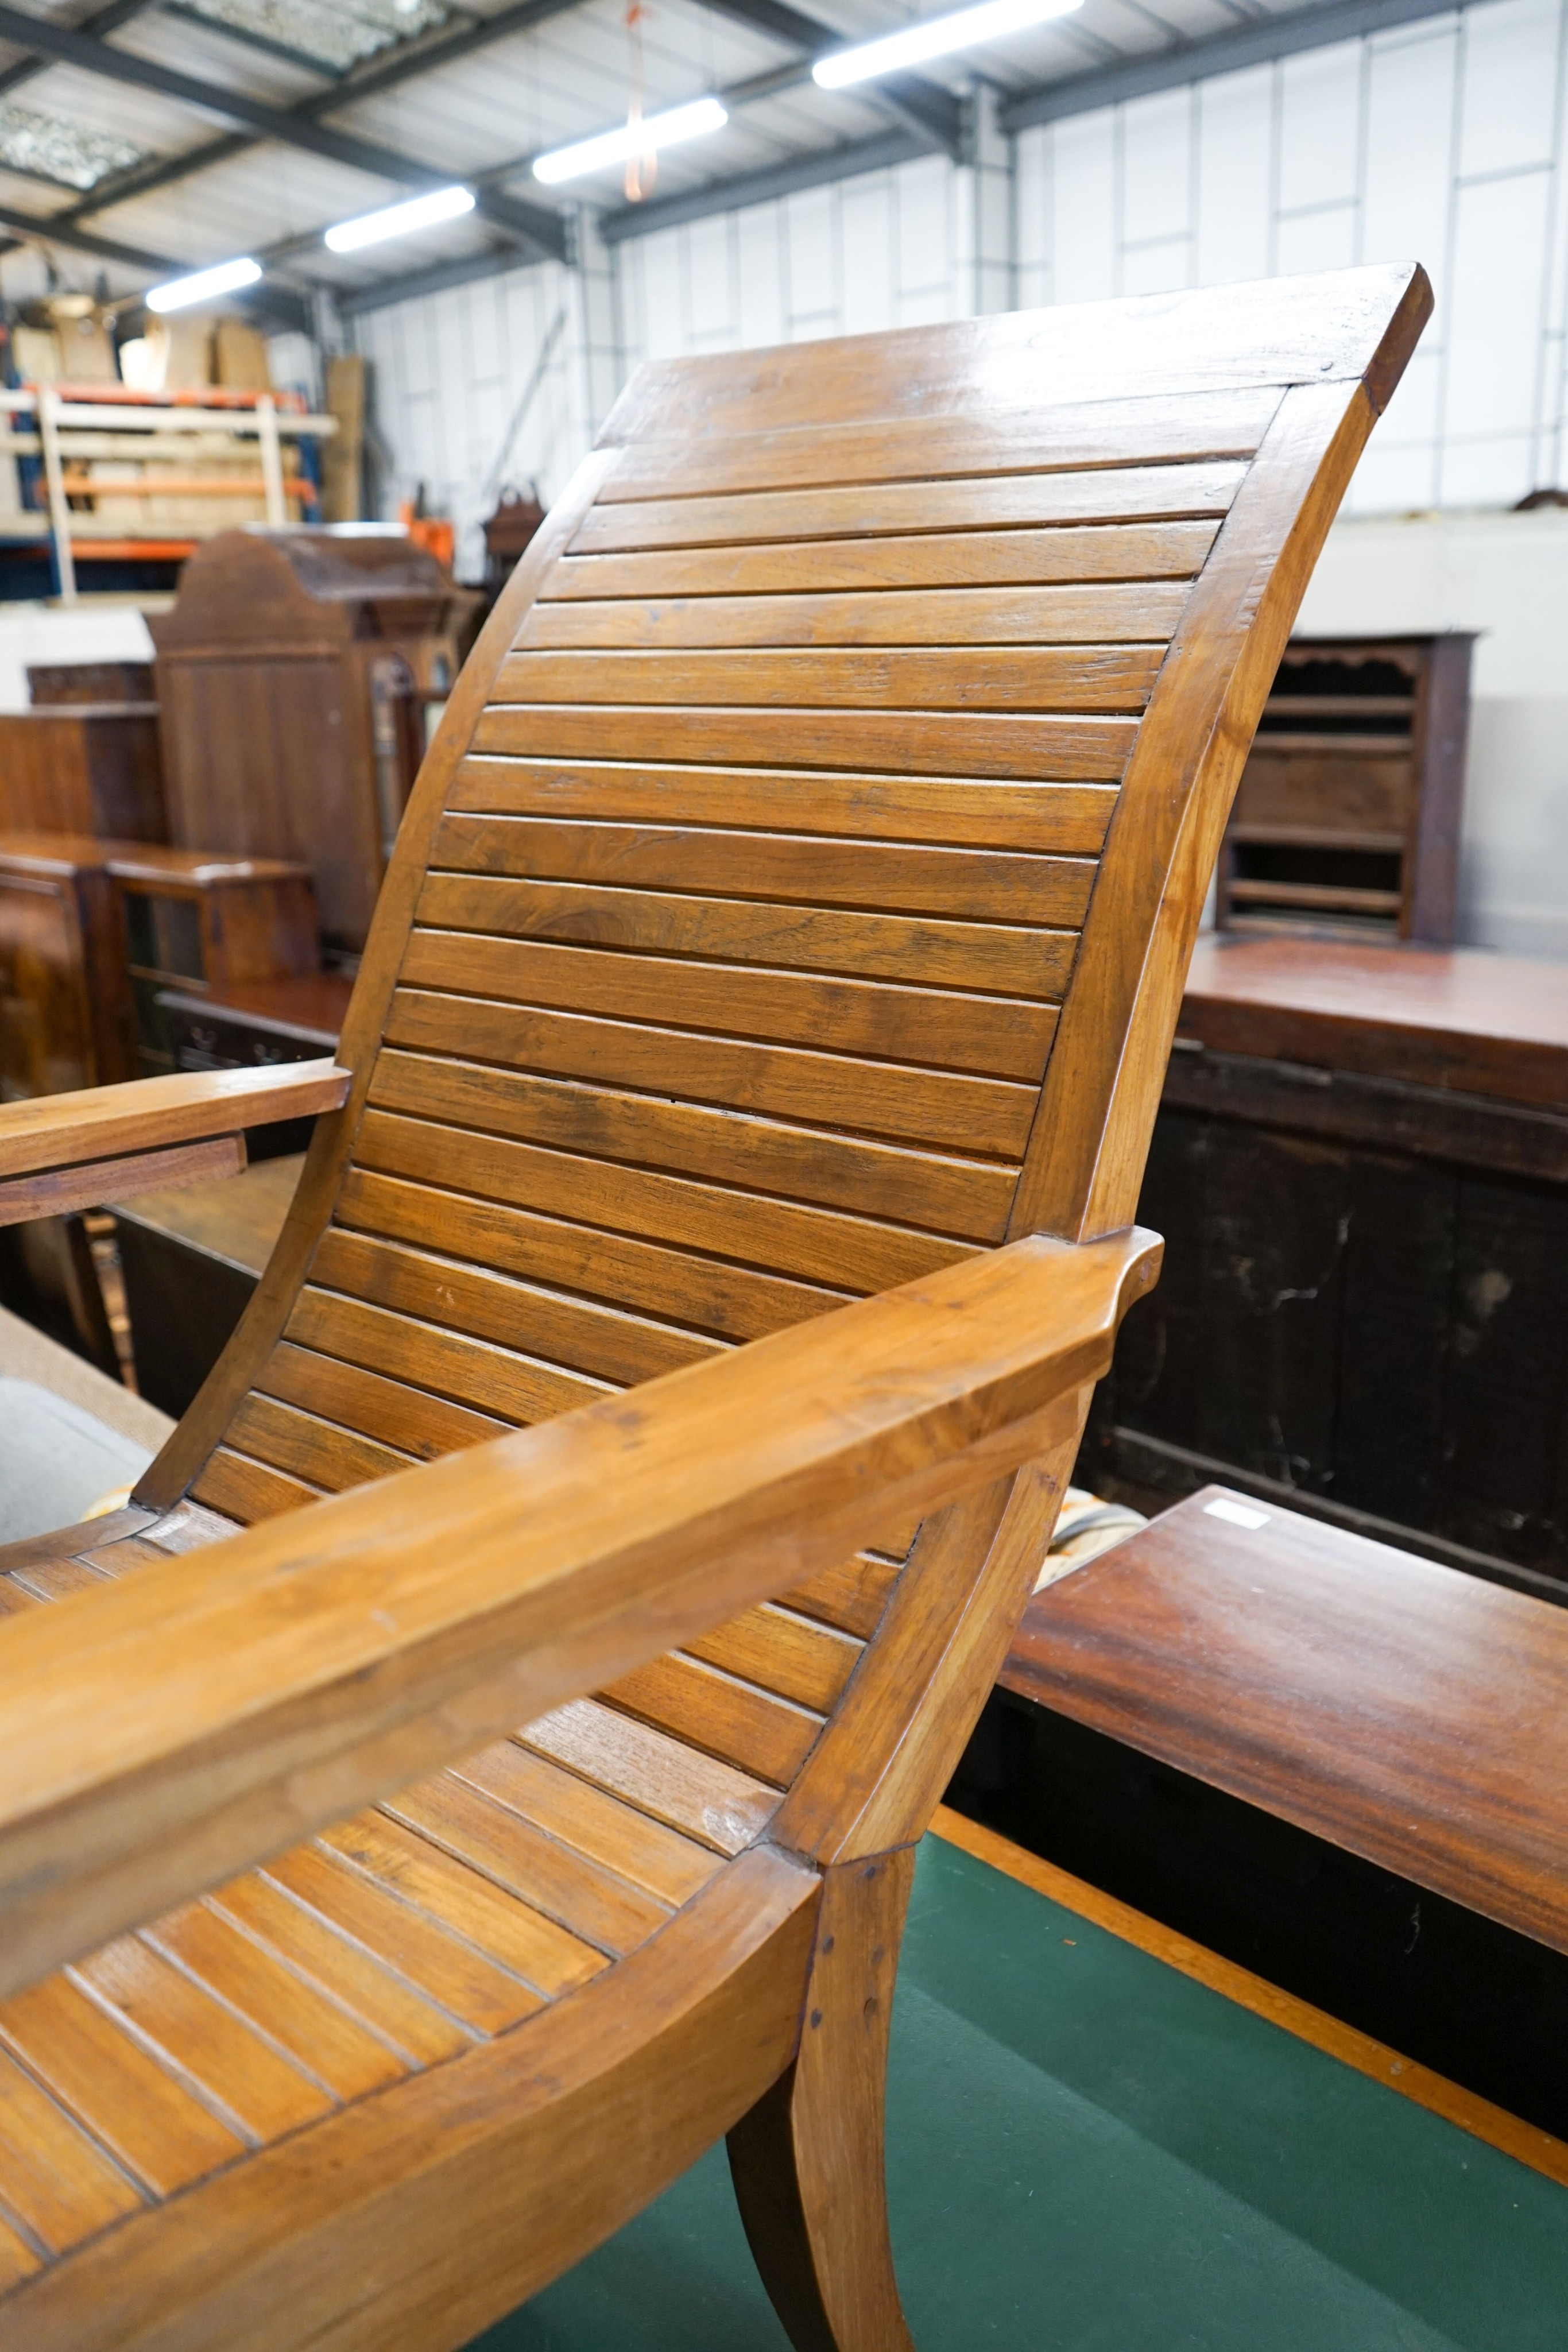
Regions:
[[[823,1872],[799,2056],[729,2136],[741,2220],[795,2352],[914,2352],[886,2223],[884,2091],[914,1849]]]

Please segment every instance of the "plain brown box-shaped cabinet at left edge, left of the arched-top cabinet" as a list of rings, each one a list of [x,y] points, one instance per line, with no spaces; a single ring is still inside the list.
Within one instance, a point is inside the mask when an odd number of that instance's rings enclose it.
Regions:
[[[158,703],[0,710],[0,826],[167,840]]]

